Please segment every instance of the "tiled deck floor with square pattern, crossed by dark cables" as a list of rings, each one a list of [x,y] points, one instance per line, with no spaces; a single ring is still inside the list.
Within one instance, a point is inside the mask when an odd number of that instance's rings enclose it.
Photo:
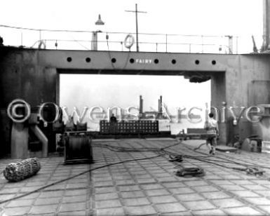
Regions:
[[[63,166],[62,157],[41,158],[41,170],[34,177],[10,183],[1,174],[0,201],[14,198],[46,184],[71,177],[90,168],[110,163],[156,156],[151,151],[112,151],[114,147],[162,148],[177,140],[95,140],[95,163]],[[205,156],[205,146],[192,151],[203,141],[188,141],[167,150],[191,156]],[[201,153],[204,154],[201,154]],[[208,159],[221,158],[238,163],[269,166],[268,154],[218,152]],[[170,162],[168,156],[118,163],[93,170],[22,198],[0,205],[0,215],[270,215],[270,170],[261,177],[212,163],[184,158]],[[214,161],[215,160],[215,161]],[[14,160],[0,161],[3,170]],[[222,160],[224,161],[224,160]],[[241,167],[219,162],[224,166]],[[199,167],[203,177],[177,177],[178,168]]]

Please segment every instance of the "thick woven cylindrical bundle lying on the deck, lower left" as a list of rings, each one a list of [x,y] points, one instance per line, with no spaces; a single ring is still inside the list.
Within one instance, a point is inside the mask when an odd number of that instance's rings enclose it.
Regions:
[[[4,177],[9,182],[19,182],[36,175],[41,168],[38,158],[28,158],[24,161],[9,163],[3,171]]]

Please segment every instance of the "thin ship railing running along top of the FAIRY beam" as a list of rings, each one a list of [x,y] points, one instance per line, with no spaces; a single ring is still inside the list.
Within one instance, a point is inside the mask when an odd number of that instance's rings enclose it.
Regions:
[[[29,29],[0,25],[0,36],[5,46],[61,50],[109,50],[163,53],[252,53],[251,35],[195,35],[129,32],[101,32],[56,29]],[[133,38],[133,46],[126,46]],[[254,36],[259,46],[262,36]],[[258,47],[259,48],[259,47]]]

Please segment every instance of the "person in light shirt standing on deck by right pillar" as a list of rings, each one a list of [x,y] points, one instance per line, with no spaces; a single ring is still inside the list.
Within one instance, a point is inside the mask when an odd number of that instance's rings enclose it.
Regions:
[[[213,119],[214,114],[212,112],[208,115],[209,119],[206,119],[204,128],[209,137],[206,139],[206,145],[210,149],[209,154],[215,154],[215,147],[217,146],[217,137],[219,135],[217,121]]]

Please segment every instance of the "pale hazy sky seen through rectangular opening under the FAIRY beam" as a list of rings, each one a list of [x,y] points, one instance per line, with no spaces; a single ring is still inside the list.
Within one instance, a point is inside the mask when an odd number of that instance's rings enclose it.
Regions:
[[[59,96],[67,114],[78,113],[81,119],[75,114],[74,121],[87,122],[92,131],[100,130],[99,121],[108,119],[109,110],[119,121],[135,120],[140,95],[144,114],[153,119],[162,96],[159,130],[177,134],[186,128],[203,127],[205,104],[210,107],[210,88],[210,81],[190,83],[184,76],[60,74]]]

